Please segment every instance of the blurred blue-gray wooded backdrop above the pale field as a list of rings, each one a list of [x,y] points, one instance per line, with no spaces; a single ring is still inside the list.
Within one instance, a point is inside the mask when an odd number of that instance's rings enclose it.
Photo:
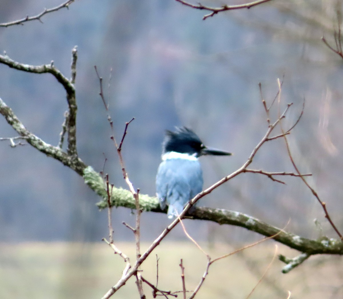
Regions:
[[[245,1],[206,1],[220,6]],[[0,22],[35,15],[61,0],[2,0]],[[204,187],[240,167],[267,130],[258,83],[267,102],[283,78],[282,105],[293,102],[285,125],[304,115],[289,136],[294,158],[327,203],[342,228],[343,170],[342,59],[321,41],[333,42],[341,1],[271,1],[249,10],[229,11],[202,20],[204,11],[174,0],[77,0],[24,26],[0,28],[0,50],[10,58],[41,65],[54,61],[69,77],[71,50],[78,46],[76,90],[80,158],[105,172],[115,186],[127,188],[99,97],[94,65],[104,77],[106,99],[116,135],[132,117],[123,146],[126,170],[142,194],[155,194],[165,129],[185,125],[208,146],[233,157],[201,158]],[[112,71],[111,71],[112,70]],[[57,145],[65,92],[50,74],[19,72],[0,64],[0,97],[34,134]],[[283,110],[283,109],[282,109]],[[276,117],[277,107],[274,110]],[[0,118],[0,137],[16,136]],[[283,140],[268,142],[252,167],[293,171]],[[321,232],[336,237],[310,191],[298,178],[286,185],[262,175],[230,180],[199,205],[236,210],[284,227],[303,237]],[[0,143],[0,241],[100,241],[108,234],[107,213],[82,179],[61,163],[30,146]],[[133,240],[121,223],[134,222],[130,210],[113,210],[114,238]],[[142,214],[142,239],[153,240],[168,224],[165,214]],[[185,221],[199,241],[259,239],[242,228],[204,221]],[[168,236],[185,240],[182,229]],[[305,265],[302,265],[305,266]],[[280,269],[279,269],[280,270]],[[106,291],[106,289],[104,289]],[[312,297],[313,298],[313,297]]]

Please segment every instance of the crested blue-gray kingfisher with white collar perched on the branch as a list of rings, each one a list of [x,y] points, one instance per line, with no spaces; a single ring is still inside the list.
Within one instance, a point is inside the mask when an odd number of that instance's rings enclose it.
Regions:
[[[162,162],[156,175],[156,194],[161,209],[168,205],[168,218],[180,215],[187,203],[202,191],[203,178],[198,158],[202,155],[231,155],[204,146],[186,127],[166,130],[162,144]]]

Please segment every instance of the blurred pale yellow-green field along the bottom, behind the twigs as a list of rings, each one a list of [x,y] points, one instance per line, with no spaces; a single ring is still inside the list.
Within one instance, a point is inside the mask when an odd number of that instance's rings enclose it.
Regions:
[[[148,245],[142,244],[142,250]],[[119,242],[117,246],[134,260],[134,243]],[[202,247],[212,258],[239,248],[225,244]],[[247,298],[267,270],[274,252],[274,242],[267,241],[212,264],[196,298]],[[277,248],[277,253],[297,255],[283,246]],[[142,276],[153,284],[156,254],[160,289],[181,290],[181,258],[187,289],[193,290],[199,283],[207,258],[194,244],[185,241],[159,245],[142,265]],[[276,257],[249,298],[287,298],[288,290],[292,292],[291,298],[343,298],[342,257],[311,257],[288,274],[281,273],[283,265]],[[0,244],[0,298],[101,298],[118,281],[124,266],[123,260],[105,243]],[[144,290],[147,298],[152,298],[147,285]],[[112,298],[139,298],[134,279]]]

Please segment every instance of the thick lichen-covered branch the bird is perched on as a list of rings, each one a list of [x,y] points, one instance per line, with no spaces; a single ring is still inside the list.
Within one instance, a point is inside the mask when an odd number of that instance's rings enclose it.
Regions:
[[[0,113],[20,136],[25,137],[30,145],[46,155],[59,160],[64,165],[69,166],[78,174],[82,175],[85,183],[103,198],[103,201],[97,204],[98,207],[100,209],[107,207],[107,191],[105,189],[104,180],[99,173],[95,172],[92,167],[86,166],[81,159],[71,158],[59,147],[49,145],[36,135],[29,132],[14,115],[11,108],[9,108],[1,99]],[[130,209],[136,208],[135,200],[129,190],[113,188],[111,200],[112,204],[117,207],[126,207]],[[150,197],[148,195],[141,194],[139,202],[141,209],[144,211],[166,213],[166,211],[162,211],[159,207],[156,197]],[[252,216],[239,212],[199,207],[196,208],[195,211],[190,214],[190,216],[192,216],[194,219],[213,221],[218,224],[241,226],[267,237],[275,235],[274,239],[276,241],[310,255],[343,254],[343,242],[338,239],[328,239],[324,237],[320,240],[311,240],[302,238],[298,235],[284,232],[278,227],[274,227]]]

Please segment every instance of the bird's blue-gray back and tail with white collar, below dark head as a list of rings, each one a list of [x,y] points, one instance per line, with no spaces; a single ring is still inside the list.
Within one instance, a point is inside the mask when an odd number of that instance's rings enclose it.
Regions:
[[[168,217],[173,218],[202,191],[202,170],[195,155],[168,152],[162,160],[156,175],[156,193],[161,208],[168,205]]]

